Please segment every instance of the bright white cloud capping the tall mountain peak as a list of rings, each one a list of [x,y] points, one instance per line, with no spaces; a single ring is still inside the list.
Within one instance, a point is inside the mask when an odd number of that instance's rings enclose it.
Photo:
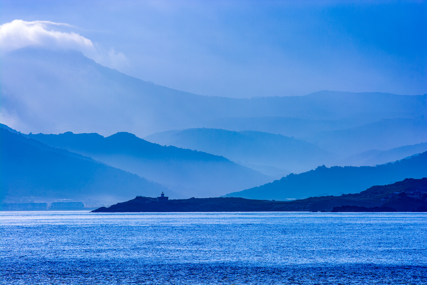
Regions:
[[[103,53],[90,39],[75,32],[60,32],[48,27],[70,26],[50,21],[14,20],[0,25],[0,52],[8,53],[23,47],[44,47],[51,50],[79,50],[95,62],[110,68],[128,65],[129,60],[123,53],[114,49]]]

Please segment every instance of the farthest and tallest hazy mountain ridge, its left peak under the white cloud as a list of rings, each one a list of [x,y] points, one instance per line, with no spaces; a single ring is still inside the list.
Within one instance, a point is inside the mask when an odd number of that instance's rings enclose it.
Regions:
[[[232,117],[351,119],[360,124],[427,115],[427,95],[320,91],[236,99],[190,94],[127,76],[73,51],[23,48],[2,56],[1,63],[2,123],[21,132],[126,131],[143,137]]]

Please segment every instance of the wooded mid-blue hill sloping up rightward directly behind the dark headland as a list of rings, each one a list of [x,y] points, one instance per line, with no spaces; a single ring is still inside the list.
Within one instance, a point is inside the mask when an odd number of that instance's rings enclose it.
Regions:
[[[386,165],[372,166],[319,166],[300,174],[289,174],[271,183],[224,195],[247,199],[287,200],[330,194],[357,193],[371,185],[390,181],[427,176],[427,152]]]

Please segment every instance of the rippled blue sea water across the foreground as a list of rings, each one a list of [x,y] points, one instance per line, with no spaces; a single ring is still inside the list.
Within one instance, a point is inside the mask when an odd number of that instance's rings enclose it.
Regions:
[[[0,284],[427,284],[427,213],[0,212]]]

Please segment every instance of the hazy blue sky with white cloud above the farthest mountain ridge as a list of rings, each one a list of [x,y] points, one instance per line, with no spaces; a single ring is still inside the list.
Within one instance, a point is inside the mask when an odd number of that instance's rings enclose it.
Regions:
[[[427,93],[426,7],[425,1],[0,0],[0,52],[28,45],[81,50],[128,75],[210,96],[419,95]]]

